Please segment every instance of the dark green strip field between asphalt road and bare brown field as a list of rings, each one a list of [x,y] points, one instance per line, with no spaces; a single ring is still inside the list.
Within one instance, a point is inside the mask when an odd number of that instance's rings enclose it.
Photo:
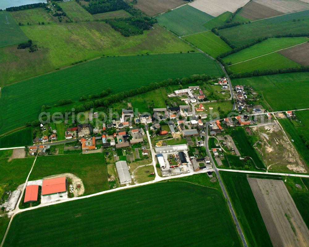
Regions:
[[[220,171],[248,246],[273,246],[252,194],[247,175]]]

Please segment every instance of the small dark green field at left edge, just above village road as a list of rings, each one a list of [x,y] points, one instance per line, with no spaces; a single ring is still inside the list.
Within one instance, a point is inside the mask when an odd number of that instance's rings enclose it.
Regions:
[[[2,147],[22,147],[33,143],[32,127],[15,131],[0,138],[0,148]]]

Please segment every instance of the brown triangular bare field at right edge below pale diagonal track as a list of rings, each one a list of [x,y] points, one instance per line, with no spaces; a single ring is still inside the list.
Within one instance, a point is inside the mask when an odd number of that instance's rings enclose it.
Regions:
[[[306,42],[301,45],[297,45],[291,47],[289,49],[284,49],[279,51],[283,56],[297,62],[303,66],[309,65],[309,57],[308,57],[309,43]]]

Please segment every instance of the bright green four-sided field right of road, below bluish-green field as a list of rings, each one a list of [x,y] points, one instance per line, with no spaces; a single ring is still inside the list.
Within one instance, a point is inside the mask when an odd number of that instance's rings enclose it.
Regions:
[[[184,39],[214,58],[231,50],[230,46],[211,31],[185,36]]]

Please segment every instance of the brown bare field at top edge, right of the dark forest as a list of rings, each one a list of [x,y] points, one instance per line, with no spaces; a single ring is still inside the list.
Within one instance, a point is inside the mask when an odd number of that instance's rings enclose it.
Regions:
[[[150,16],[154,16],[186,3],[184,0],[138,0],[137,4],[133,6]]]

